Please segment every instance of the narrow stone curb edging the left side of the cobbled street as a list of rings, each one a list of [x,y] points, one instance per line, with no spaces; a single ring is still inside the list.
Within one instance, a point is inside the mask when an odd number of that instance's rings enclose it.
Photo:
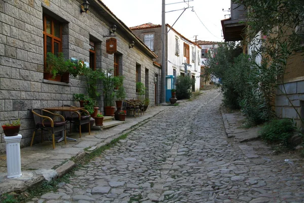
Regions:
[[[84,152],[80,152],[78,153],[76,156],[71,157],[70,160],[68,160],[67,162],[61,164],[60,166],[58,166],[57,168],[55,168],[54,172],[56,174],[54,174],[54,176],[52,177],[44,177],[41,174],[36,174],[34,172],[30,173],[30,172],[22,172],[22,174],[31,174],[31,178],[29,178],[28,180],[12,180],[12,179],[7,179],[8,181],[2,181],[0,182],[0,195],[3,195],[4,193],[10,193],[10,192],[16,192],[16,193],[21,193],[26,191],[28,188],[32,188],[36,185],[41,184],[42,182],[46,181],[47,178],[51,178],[51,180],[56,180],[62,176],[64,176],[65,174],[69,173],[75,166],[77,166],[77,162],[79,162],[86,154],[90,154],[92,152],[94,152],[96,149],[110,143],[112,140],[119,138],[122,134],[124,133],[128,133],[133,131],[134,129],[136,129],[137,127],[135,126],[140,126],[146,122],[148,122],[150,119],[156,117],[157,115],[159,115],[160,113],[167,111],[169,108],[172,108],[174,106],[168,106],[167,109],[160,111],[154,115],[151,115],[150,117],[139,121],[138,123],[131,125],[130,127],[122,130],[121,132],[114,134],[113,136],[111,136],[110,138],[106,139],[104,142],[101,142],[99,144],[97,144],[96,146],[92,146],[92,147],[96,147],[94,150],[92,151],[84,151]],[[135,127],[135,128],[134,128]],[[134,128],[134,129],[133,129]],[[9,186],[9,187],[8,187]]]

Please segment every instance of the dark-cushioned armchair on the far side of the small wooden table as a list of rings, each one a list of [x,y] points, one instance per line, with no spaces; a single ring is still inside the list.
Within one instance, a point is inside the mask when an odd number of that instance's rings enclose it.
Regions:
[[[63,105],[63,107],[74,107],[70,105]],[[80,111],[64,111],[63,112],[65,120],[67,120],[70,123],[70,132],[72,123],[75,125],[79,125],[79,137],[81,138],[81,126],[83,124],[89,123],[89,134],[91,134],[91,126],[90,126],[90,113],[87,110],[80,110]]]

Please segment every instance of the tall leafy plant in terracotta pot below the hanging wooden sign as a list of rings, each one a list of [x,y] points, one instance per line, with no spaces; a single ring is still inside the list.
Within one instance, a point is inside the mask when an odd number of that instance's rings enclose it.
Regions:
[[[115,112],[115,88],[119,84],[120,78],[112,76],[109,73],[102,78],[103,96],[104,96],[104,112],[106,116],[114,116]]]

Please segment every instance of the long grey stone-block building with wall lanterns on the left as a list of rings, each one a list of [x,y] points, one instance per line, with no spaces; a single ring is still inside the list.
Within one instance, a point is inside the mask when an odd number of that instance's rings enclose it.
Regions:
[[[32,108],[76,105],[73,94],[87,93],[83,76],[70,77],[69,83],[44,79],[47,52],[63,52],[93,69],[113,70],[116,65],[115,74],[125,77],[127,98],[137,97],[135,83],[141,81],[150,105],[159,103],[161,70],[153,62],[155,53],[101,1],[89,3],[86,13],[77,0],[0,1],[0,123],[21,119],[21,146],[28,146],[32,137]],[[112,25],[117,26],[117,52],[107,54],[109,37],[104,36]],[[0,133],[4,151],[2,128]]]

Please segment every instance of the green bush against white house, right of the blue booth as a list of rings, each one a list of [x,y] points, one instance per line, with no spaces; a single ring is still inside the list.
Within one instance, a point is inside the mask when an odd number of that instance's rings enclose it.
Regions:
[[[184,99],[191,97],[191,87],[195,84],[190,76],[177,76],[176,80],[176,97],[177,99]]]

